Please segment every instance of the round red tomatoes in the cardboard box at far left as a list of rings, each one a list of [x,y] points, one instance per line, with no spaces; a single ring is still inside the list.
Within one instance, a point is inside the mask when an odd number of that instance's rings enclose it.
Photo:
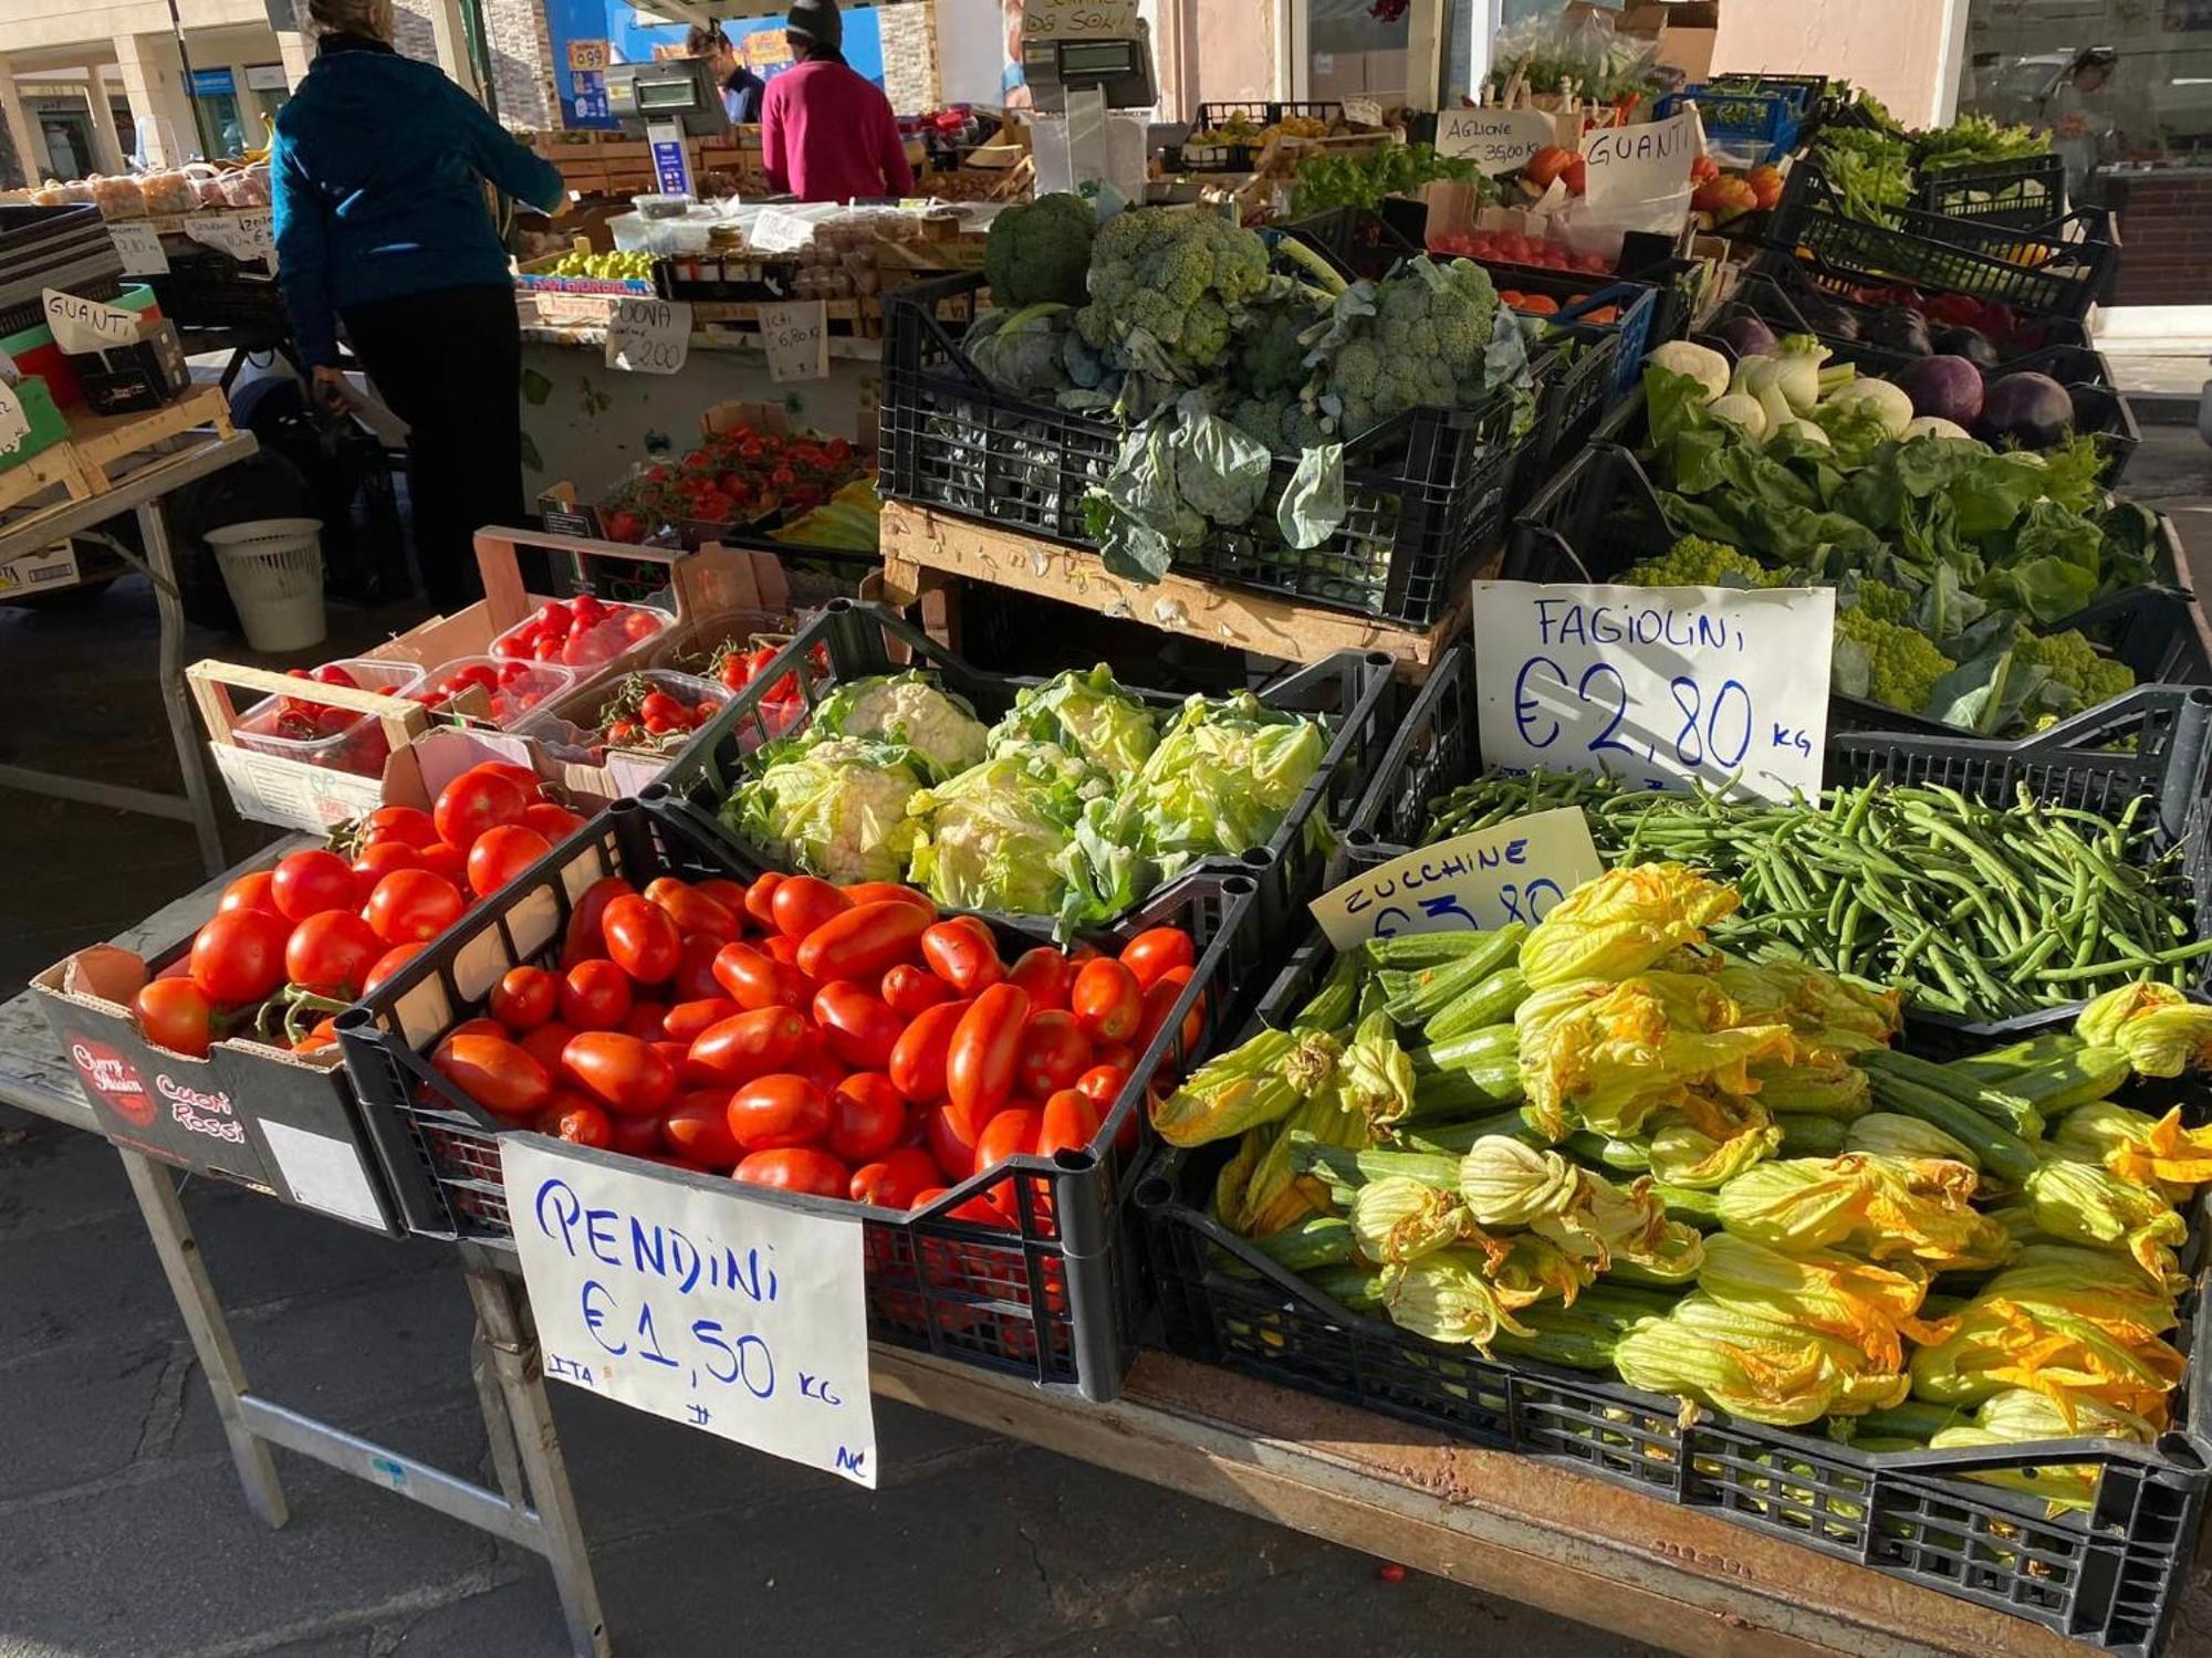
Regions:
[[[139,1030],[195,1059],[248,1028],[294,1052],[330,1048],[323,1015],[374,990],[582,825],[540,798],[535,774],[498,760],[447,783],[431,811],[378,807],[352,860],[294,851],[230,882],[190,953],[137,993]]]

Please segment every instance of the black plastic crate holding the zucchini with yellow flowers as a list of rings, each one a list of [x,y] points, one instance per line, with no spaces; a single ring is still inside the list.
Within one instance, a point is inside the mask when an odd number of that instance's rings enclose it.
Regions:
[[[1290,1012],[1329,953],[1305,951],[1270,990]],[[2197,1375],[2212,1293],[2194,1262],[2183,1426],[2157,1446],[1865,1452],[1524,1357],[1486,1360],[1387,1318],[1352,1313],[1217,1225],[1214,1176],[1234,1143],[1161,1152],[1137,1187],[1164,1344],[1203,1364],[1376,1410],[1626,1486],[1887,1576],[2028,1618],[2090,1647],[2152,1658],[2166,1638],[2212,1486],[2212,1408]],[[2199,1218],[2199,1242],[2203,1220]],[[2201,1251],[2199,1251],[2201,1253]],[[2090,1514],[2046,1517],[1969,1475],[2099,1468]]]

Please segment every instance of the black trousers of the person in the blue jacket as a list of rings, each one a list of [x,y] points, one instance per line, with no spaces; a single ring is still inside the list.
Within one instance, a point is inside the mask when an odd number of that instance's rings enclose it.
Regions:
[[[476,531],[522,524],[522,329],[515,292],[440,287],[343,312],[376,396],[407,422],[416,562],[431,604],[484,595]]]

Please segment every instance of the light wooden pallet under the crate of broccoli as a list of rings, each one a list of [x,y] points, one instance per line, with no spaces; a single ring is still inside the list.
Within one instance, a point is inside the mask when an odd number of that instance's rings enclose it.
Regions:
[[[1040,542],[1033,535],[998,531],[927,506],[885,502],[885,601],[905,608],[925,597],[958,597],[956,581],[1020,588],[1102,617],[1141,621],[1161,632],[1281,661],[1321,661],[1338,650],[1383,650],[1398,659],[1398,674],[1413,683],[1429,676],[1467,621],[1467,606],[1458,604],[1431,628],[1405,628],[1347,610],[1197,581],[1172,570],[1152,586],[1139,586],[1108,575],[1099,555],[1088,548]],[[949,608],[940,626],[953,626]]]

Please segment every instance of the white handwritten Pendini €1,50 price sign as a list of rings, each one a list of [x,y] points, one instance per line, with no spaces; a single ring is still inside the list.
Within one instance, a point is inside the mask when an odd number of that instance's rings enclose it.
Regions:
[[[876,1486],[860,1222],[500,1141],[544,1373]]]

